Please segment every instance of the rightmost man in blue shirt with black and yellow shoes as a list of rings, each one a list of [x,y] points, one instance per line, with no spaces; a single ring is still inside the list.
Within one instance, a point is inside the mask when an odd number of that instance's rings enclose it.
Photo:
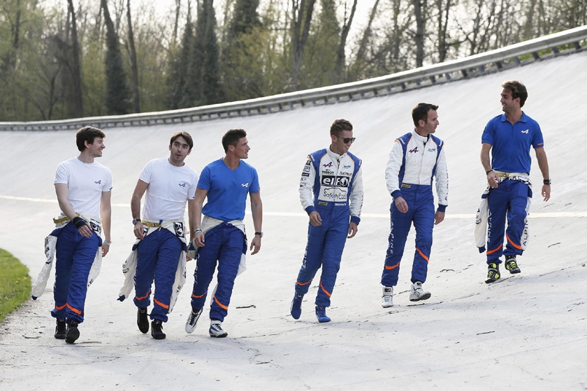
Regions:
[[[530,209],[530,146],[534,148],[542,172],[544,201],[550,198],[549,163],[544,152],[544,140],[538,123],[522,112],[528,98],[526,87],[519,81],[507,81],[501,86],[504,114],[491,119],[481,137],[481,164],[487,175],[488,238],[486,283],[500,278],[500,256],[505,256],[505,268],[520,272],[516,256],[521,256],[528,237],[524,234],[526,216]],[[489,151],[491,150],[491,162]],[[507,217],[507,230],[505,220]],[[505,250],[503,249],[507,239]]]

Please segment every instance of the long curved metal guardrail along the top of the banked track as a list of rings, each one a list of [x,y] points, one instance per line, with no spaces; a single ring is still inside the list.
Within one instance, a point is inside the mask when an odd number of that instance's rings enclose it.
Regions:
[[[305,106],[323,105],[341,101],[370,98],[394,94],[398,91],[423,87],[437,82],[449,82],[476,75],[500,71],[512,66],[520,66],[545,57],[556,57],[582,50],[581,42],[587,40],[587,26],[577,27],[541,38],[527,40],[491,50],[474,56],[424,66],[360,82],[337,84],[330,87],[307,89],[287,94],[266,96],[247,101],[220,103],[164,112],[146,112],[109,117],[85,117],[56,121],[0,122],[0,131],[56,131],[78,129],[82,126],[99,128],[148,126],[156,124],[178,124],[207,119],[238,117],[243,115],[267,114],[293,110]],[[573,45],[570,50],[561,51],[565,45]],[[539,52],[549,53],[539,56]],[[532,55],[529,59],[520,59]]]

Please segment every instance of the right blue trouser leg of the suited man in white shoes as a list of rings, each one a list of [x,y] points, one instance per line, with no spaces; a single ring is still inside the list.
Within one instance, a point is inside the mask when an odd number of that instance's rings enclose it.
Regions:
[[[412,265],[412,283],[426,282],[428,274],[428,260],[432,249],[432,230],[434,227],[434,204],[423,202],[412,217],[416,229],[416,251]]]

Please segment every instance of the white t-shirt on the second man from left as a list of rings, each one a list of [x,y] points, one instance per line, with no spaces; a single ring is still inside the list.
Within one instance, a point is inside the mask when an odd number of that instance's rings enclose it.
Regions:
[[[184,164],[176,167],[168,158],[153,159],[138,177],[149,184],[143,207],[143,219],[179,220],[184,218],[185,203],[196,196],[198,174]]]

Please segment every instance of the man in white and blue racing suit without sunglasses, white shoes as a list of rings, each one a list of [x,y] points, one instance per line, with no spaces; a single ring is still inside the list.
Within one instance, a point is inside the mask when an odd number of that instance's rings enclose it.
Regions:
[[[390,208],[391,233],[381,279],[384,308],[393,306],[393,286],[398,283],[400,261],[412,223],[416,228],[416,251],[412,265],[410,301],[430,297],[430,292],[423,290],[422,284],[428,273],[433,226],[444,220],[449,194],[444,142],[432,135],[438,126],[437,108],[437,105],[429,103],[416,105],[412,110],[415,128],[396,139],[385,169],[387,189],[393,201]],[[433,177],[436,177],[438,195],[436,212]]]

